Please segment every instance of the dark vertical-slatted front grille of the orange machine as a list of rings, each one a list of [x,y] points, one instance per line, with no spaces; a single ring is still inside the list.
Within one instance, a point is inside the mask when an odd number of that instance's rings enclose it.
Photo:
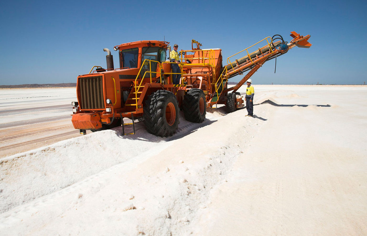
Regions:
[[[79,79],[80,108],[104,109],[102,76],[85,77]]]

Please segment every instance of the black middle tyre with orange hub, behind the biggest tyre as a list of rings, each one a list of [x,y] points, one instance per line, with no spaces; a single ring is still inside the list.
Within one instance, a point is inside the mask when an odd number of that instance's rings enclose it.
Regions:
[[[183,98],[182,109],[187,121],[203,122],[206,115],[206,99],[203,90],[200,88],[190,89]]]

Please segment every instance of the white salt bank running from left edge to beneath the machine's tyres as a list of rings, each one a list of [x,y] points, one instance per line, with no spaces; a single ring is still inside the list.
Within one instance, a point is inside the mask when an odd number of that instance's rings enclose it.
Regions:
[[[218,113],[207,113],[200,124],[186,121],[180,112],[180,124],[172,137],[149,134],[142,122],[135,123],[134,137],[121,135],[122,128],[103,130],[0,159],[0,213],[53,193],[111,166],[123,163],[155,146],[207,126]],[[32,181],[37,179],[37,181]],[[16,185],[14,183],[17,183]],[[26,187],[25,187],[26,186]],[[17,192],[14,195],[13,192]]]

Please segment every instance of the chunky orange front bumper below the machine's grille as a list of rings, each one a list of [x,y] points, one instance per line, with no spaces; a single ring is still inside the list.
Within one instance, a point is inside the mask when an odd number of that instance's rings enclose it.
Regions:
[[[73,126],[79,130],[102,128],[101,117],[97,113],[77,113],[72,116]]]

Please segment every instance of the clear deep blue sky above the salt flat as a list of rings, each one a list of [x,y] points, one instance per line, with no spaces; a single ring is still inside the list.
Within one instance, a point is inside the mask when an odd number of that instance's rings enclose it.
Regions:
[[[254,84],[367,82],[367,1],[4,1],[0,8],[0,85],[75,83],[107,47],[138,40],[191,49],[221,48],[226,59],[267,36],[311,35],[266,62]],[[224,61],[225,61],[224,59]],[[225,62],[224,62],[225,64]],[[242,76],[230,81],[239,81]]]

